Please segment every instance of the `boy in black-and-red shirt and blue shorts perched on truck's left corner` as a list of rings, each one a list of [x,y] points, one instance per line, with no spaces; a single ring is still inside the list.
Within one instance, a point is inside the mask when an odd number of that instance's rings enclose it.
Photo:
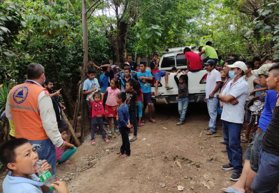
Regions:
[[[159,70],[160,60],[158,59],[158,57],[159,57],[159,54],[157,52],[154,52],[153,55],[152,55],[152,60],[150,62],[151,73],[153,74],[153,77],[156,80],[156,83],[155,83],[155,97],[158,97],[158,96],[162,95],[162,93],[158,93],[158,85],[159,85],[159,82],[161,80],[161,77],[165,77],[165,82],[166,82],[165,88],[167,90],[171,90],[171,89],[174,88],[174,87],[169,87],[169,85],[168,85],[168,78],[169,78],[170,72],[167,72],[167,71],[164,71],[164,70]]]

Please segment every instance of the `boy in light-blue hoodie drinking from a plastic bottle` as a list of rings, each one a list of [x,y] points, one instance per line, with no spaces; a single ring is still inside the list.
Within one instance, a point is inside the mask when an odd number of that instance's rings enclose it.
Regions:
[[[3,181],[3,192],[17,193],[46,193],[49,187],[44,185],[38,172],[34,169],[35,163],[39,160],[36,149],[31,146],[27,139],[18,138],[5,142],[0,147],[0,162],[9,169],[8,175]],[[47,160],[43,160],[41,170],[51,171],[51,166]],[[51,184],[58,193],[68,193],[65,182],[54,182]]]

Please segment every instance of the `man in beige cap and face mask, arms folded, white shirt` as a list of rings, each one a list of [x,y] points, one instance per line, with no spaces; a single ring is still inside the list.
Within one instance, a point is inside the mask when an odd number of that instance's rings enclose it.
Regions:
[[[240,146],[240,133],[244,119],[244,105],[248,95],[248,83],[243,74],[247,70],[244,62],[237,61],[230,68],[229,76],[233,79],[229,81],[222,93],[217,95],[224,102],[221,115],[223,123],[223,136],[226,144],[229,163],[222,166],[222,169],[231,170],[233,174],[229,178],[238,181],[242,172],[242,148]],[[237,99],[237,103],[231,101]]]

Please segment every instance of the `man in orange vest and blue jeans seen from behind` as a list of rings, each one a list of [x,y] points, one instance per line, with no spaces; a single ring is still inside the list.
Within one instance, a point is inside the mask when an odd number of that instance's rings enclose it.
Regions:
[[[26,138],[36,148],[39,159],[46,159],[56,169],[56,149],[65,148],[58,130],[53,105],[47,89],[42,87],[45,74],[41,64],[31,63],[27,67],[23,84],[13,87],[7,98],[6,117],[14,122],[15,138]]]

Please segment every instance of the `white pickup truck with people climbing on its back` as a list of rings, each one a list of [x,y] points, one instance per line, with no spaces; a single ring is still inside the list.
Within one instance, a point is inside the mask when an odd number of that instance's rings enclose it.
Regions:
[[[194,47],[189,46],[191,49]],[[187,70],[187,64],[183,50],[185,47],[172,48],[167,50],[167,53],[161,57],[159,63],[159,69],[165,71],[171,71],[172,67],[177,69]],[[195,51],[197,54],[198,51]],[[162,110],[164,105],[175,104],[177,103],[178,88],[174,80],[174,74],[170,73],[169,75],[169,86],[174,87],[172,90],[166,90],[165,88],[165,79],[161,78],[158,93],[163,93],[159,97],[155,97],[155,83],[151,83],[151,100],[154,103],[155,110]],[[182,73],[178,74],[179,77]],[[204,102],[205,97],[205,86],[206,86],[206,77],[207,71],[201,70],[199,72],[188,72],[188,89],[189,89],[189,102],[198,103]]]

